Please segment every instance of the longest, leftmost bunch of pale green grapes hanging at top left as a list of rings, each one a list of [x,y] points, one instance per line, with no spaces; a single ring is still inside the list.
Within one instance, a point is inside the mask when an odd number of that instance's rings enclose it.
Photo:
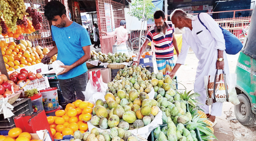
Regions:
[[[5,0],[0,0],[0,5],[1,5],[1,10],[3,14],[3,18],[5,19],[5,24],[8,28],[11,29],[11,31],[17,30],[17,19],[18,17],[16,16],[15,13],[15,7],[10,5],[10,1],[5,1]],[[15,3],[15,2],[14,2]]]

